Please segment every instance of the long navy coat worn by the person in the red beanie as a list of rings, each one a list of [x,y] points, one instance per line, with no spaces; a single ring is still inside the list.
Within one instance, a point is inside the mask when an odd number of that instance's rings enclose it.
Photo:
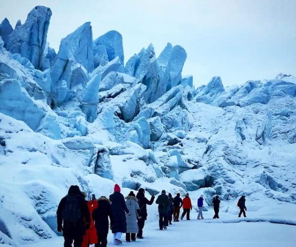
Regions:
[[[126,217],[125,212],[129,213],[126,207],[123,195],[120,192],[114,192],[109,197],[111,201],[111,213],[113,222],[111,224],[112,233],[126,233]]]

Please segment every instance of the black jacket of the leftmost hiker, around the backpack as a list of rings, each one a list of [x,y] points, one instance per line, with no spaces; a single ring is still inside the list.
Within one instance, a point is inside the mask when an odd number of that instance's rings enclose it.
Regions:
[[[75,223],[63,220],[63,210],[65,209],[65,206],[67,204],[67,199],[69,197],[76,198],[78,202],[78,206],[80,208],[81,217]],[[90,215],[89,215],[88,207],[82,195],[68,194],[67,196],[62,198],[57,209],[57,224],[58,224],[58,227],[61,227],[63,225],[63,236],[64,237],[73,237],[73,236],[82,237],[85,234],[85,222],[86,224],[90,225]]]

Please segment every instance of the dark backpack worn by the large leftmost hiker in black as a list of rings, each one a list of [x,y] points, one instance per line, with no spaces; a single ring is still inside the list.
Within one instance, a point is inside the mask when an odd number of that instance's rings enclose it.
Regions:
[[[67,196],[62,211],[64,221],[76,222],[81,218],[80,206],[76,196]]]

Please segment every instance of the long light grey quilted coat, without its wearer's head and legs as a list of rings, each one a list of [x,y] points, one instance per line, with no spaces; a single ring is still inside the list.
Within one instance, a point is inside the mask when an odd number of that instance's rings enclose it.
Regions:
[[[138,233],[138,223],[137,223],[137,210],[139,205],[137,203],[137,198],[133,196],[127,196],[125,204],[129,210],[129,214],[126,215],[126,232],[128,233]]]

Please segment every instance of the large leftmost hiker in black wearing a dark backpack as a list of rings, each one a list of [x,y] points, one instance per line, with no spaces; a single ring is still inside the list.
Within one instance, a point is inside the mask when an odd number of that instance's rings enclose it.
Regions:
[[[57,209],[57,230],[63,231],[64,247],[80,247],[85,230],[90,226],[86,201],[77,185],[71,185]]]

